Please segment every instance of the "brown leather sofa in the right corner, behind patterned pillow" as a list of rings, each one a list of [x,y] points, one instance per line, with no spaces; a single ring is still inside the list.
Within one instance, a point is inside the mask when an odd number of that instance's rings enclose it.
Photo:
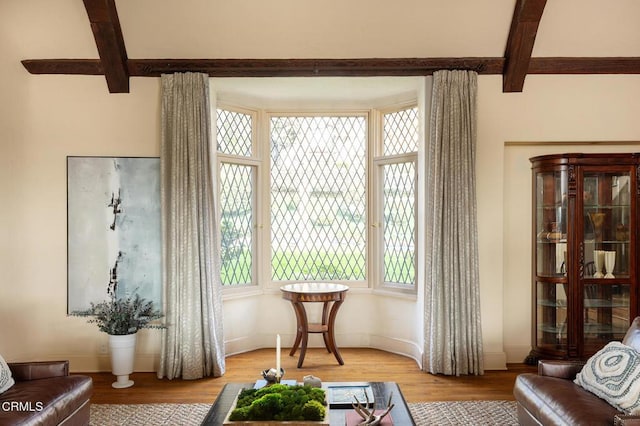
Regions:
[[[640,317],[632,322],[622,343],[640,350]],[[520,374],[513,389],[520,425],[640,425],[640,416],[625,415],[574,383],[584,365],[541,360],[538,374]]]

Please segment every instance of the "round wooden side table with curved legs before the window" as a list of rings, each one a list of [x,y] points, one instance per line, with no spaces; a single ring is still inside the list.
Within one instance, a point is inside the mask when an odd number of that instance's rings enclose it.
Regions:
[[[336,345],[334,325],[338,309],[340,305],[342,305],[342,302],[344,302],[349,287],[344,284],[332,283],[295,283],[284,285],[280,287],[280,290],[282,291],[282,298],[291,302],[293,310],[296,313],[296,320],[298,322],[296,341],[291,348],[289,356],[294,356],[298,347],[301,346],[298,368],[302,367],[304,356],[307,353],[309,333],[322,333],[327,351],[333,353],[340,365],[344,365],[344,361]],[[321,323],[309,323],[304,302],[321,302],[324,304],[322,307]]]

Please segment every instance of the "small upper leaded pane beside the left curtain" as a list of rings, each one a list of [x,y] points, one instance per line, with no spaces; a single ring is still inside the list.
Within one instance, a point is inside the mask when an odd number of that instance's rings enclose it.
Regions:
[[[217,110],[218,152],[251,155],[251,116],[223,109]]]

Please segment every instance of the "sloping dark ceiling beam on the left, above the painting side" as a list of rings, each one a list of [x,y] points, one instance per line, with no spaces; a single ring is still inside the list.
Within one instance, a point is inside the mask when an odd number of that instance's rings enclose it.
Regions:
[[[100,64],[111,93],[129,93],[127,51],[115,0],[84,0],[96,40]],[[63,64],[58,66],[62,67]],[[83,66],[87,66],[85,62]],[[70,63],[64,64],[69,67]]]

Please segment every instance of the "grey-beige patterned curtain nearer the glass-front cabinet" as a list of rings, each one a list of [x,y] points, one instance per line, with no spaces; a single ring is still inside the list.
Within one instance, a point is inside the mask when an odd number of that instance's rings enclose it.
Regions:
[[[477,74],[433,74],[427,149],[425,347],[433,374],[483,374],[476,221]]]

